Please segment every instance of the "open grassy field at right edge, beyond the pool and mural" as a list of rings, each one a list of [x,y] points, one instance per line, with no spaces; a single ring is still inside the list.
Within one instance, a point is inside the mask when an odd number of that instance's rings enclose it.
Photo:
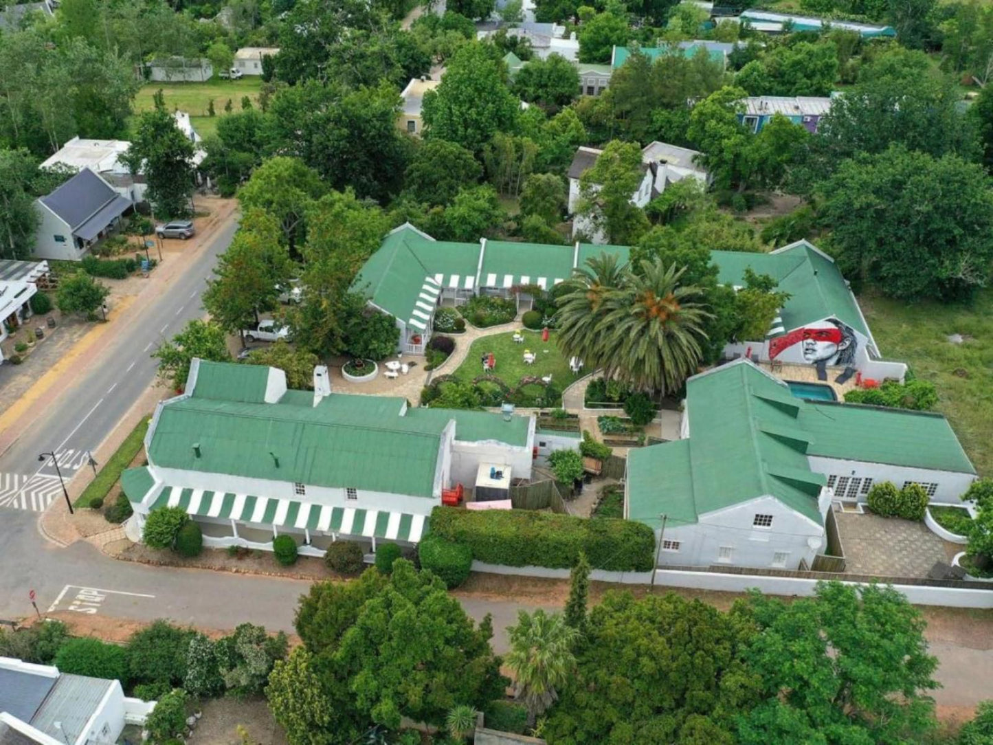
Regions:
[[[971,305],[908,304],[859,298],[887,360],[911,366],[937,388],[937,410],[948,417],[981,476],[993,476],[993,290]],[[962,344],[948,336],[961,334]]]

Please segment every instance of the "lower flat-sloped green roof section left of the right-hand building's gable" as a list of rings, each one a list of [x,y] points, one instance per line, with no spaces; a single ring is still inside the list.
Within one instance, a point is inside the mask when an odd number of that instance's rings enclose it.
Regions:
[[[628,520],[658,527],[662,513],[675,525],[696,522],[689,440],[628,453]]]

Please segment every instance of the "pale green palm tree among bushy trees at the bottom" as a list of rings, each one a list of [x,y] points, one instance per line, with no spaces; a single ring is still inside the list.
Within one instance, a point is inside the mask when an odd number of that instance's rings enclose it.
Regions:
[[[528,726],[533,727],[576,667],[572,648],[579,632],[561,614],[548,615],[538,609],[533,614],[518,611],[517,625],[508,628],[507,634],[510,652],[505,662],[514,672],[515,695],[524,701]]]

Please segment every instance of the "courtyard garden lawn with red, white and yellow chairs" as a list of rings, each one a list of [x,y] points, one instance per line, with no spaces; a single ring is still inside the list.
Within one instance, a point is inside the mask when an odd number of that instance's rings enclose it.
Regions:
[[[516,387],[517,381],[525,375],[543,377],[550,374],[552,384],[559,390],[564,390],[576,379],[577,375],[569,370],[568,362],[555,345],[554,332],[549,335],[547,342],[541,341],[540,332],[523,330],[521,333],[524,335],[523,344],[513,343],[512,331],[477,339],[469,348],[469,357],[453,374],[461,380],[471,382],[474,377],[483,374],[481,358],[492,352],[497,358],[494,374],[511,388]],[[530,350],[536,355],[534,365],[524,364],[524,350]]]

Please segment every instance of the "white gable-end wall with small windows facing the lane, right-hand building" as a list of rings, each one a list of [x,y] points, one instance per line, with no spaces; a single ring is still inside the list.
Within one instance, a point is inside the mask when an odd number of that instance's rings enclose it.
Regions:
[[[824,490],[824,493],[821,502],[827,506],[830,504],[830,492]],[[753,527],[757,514],[772,515],[772,527]],[[658,533],[656,530],[656,540]],[[805,559],[809,565],[826,545],[822,524],[807,520],[773,497],[760,497],[726,510],[701,515],[699,522],[693,524],[668,522],[662,537],[664,540],[678,540],[680,546],[678,551],[662,548],[659,551],[659,566],[726,563],[729,566],[773,567],[778,566],[775,554],[784,552],[788,555],[781,568],[795,569],[800,559]],[[729,558],[721,558],[722,547],[731,548]]]

